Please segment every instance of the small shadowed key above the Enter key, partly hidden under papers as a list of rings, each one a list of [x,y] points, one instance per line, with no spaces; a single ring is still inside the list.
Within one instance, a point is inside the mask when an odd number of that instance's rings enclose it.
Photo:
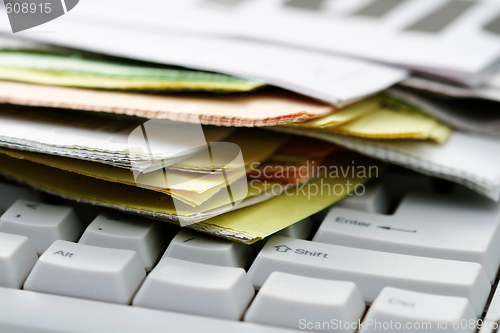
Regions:
[[[356,193],[352,193],[333,207],[348,208],[359,210],[362,212],[370,212],[377,214],[387,214],[390,208],[390,198],[385,185],[382,182],[368,184],[364,187],[364,192],[360,187]]]

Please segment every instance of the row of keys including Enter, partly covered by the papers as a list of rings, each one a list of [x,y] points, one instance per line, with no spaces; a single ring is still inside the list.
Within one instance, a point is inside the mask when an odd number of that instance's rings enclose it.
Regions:
[[[389,209],[387,192],[384,183],[373,183],[363,196],[339,202],[313,241],[477,262],[493,282],[500,265],[499,205],[464,189],[446,196],[424,191],[410,193],[394,215],[381,215]],[[305,219],[278,235],[310,239],[313,225]],[[248,268],[255,258],[248,246],[186,229],[171,241],[173,235],[165,233],[162,227],[162,223],[140,217],[101,213],[84,231],[72,208],[27,200],[18,200],[0,218],[0,232],[28,236],[38,255],[55,240],[79,239],[82,244],[136,251],[146,271],[154,267],[162,253],[183,260],[243,268]],[[260,251],[266,241],[254,245],[253,250]]]

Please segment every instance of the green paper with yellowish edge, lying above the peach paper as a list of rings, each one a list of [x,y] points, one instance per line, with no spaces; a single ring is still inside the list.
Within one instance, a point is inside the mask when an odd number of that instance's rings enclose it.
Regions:
[[[244,92],[264,82],[181,68],[164,68],[39,52],[0,51],[0,80],[41,85],[139,91]]]

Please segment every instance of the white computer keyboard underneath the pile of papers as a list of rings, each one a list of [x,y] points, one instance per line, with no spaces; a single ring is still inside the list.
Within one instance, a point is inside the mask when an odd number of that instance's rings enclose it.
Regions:
[[[0,210],[0,332],[491,333],[500,323],[500,204],[401,169],[252,246],[6,181]]]

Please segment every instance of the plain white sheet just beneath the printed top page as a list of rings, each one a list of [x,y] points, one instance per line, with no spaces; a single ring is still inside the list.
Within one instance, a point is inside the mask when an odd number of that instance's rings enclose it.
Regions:
[[[98,19],[91,23],[68,14],[16,36],[257,78],[336,106],[355,102],[407,77],[404,70],[297,48],[155,31],[148,25],[121,25]]]

